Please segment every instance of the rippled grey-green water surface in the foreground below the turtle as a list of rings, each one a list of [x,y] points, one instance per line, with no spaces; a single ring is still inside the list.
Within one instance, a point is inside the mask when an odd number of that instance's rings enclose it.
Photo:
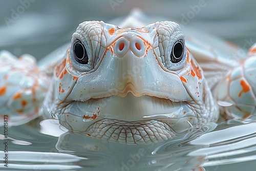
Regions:
[[[126,145],[75,135],[57,120],[9,128],[8,167],[2,170],[252,170],[255,122],[209,123],[159,143]],[[5,142],[0,127],[0,143]],[[54,131],[53,131],[54,130]],[[3,151],[0,153],[4,156]]]

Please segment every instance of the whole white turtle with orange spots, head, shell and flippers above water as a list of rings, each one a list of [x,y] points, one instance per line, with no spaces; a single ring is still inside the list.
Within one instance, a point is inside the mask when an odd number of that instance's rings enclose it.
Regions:
[[[148,23],[132,14],[122,28],[83,22],[70,46],[40,68],[30,55],[0,52],[1,124],[26,123],[42,105],[45,117],[74,133],[145,144],[215,122],[220,114],[253,118],[255,45],[238,60],[232,56],[240,49],[218,38],[143,20]]]

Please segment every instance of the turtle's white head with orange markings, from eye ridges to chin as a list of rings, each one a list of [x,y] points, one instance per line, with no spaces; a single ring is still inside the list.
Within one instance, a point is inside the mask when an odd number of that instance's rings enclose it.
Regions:
[[[170,139],[218,115],[174,22],[81,23],[50,89],[45,113],[73,132],[120,143]]]

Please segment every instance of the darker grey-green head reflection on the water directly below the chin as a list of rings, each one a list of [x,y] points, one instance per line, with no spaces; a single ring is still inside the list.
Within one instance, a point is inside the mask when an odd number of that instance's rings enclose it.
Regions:
[[[206,155],[187,156],[202,145],[186,143],[202,133],[200,130],[173,141],[127,145],[66,132],[60,135],[56,148],[61,153],[87,158],[80,164],[91,170],[186,170],[198,168],[206,161]]]

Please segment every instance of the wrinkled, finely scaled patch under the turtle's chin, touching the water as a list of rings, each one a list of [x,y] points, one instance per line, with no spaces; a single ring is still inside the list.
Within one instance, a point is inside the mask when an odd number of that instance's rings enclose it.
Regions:
[[[101,119],[90,125],[87,130],[87,136],[125,144],[156,143],[176,135],[168,124],[159,120]]]

